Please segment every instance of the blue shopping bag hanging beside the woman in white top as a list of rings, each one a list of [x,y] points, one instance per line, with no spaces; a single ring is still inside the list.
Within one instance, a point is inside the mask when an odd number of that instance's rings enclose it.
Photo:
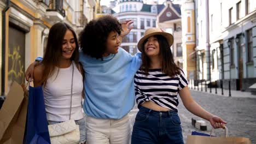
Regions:
[[[26,134],[24,142],[27,144],[49,144],[50,136],[48,121],[44,106],[42,86],[29,88]]]

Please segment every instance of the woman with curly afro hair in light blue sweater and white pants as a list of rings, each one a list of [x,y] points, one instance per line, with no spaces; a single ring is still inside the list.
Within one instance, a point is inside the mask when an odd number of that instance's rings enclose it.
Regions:
[[[141,66],[141,53],[131,56],[119,46],[131,23],[103,16],[90,21],[79,34],[88,143],[130,143],[127,113],[135,104],[133,77]]]

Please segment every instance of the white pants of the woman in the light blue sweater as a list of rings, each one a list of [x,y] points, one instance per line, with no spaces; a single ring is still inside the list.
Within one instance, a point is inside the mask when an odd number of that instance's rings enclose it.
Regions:
[[[121,119],[86,118],[86,144],[130,144],[129,115]]]

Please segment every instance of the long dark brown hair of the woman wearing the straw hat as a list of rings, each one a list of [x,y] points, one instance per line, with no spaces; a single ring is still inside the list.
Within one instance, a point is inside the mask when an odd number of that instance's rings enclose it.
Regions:
[[[181,68],[179,68],[173,60],[173,55],[170,49],[171,45],[168,44],[166,38],[162,35],[154,35],[153,37],[158,39],[160,49],[159,54],[162,61],[162,72],[170,77],[173,77],[174,75],[180,75]],[[145,75],[148,75],[150,60],[144,51],[144,45],[146,42],[147,40],[143,42],[141,70],[143,70]]]

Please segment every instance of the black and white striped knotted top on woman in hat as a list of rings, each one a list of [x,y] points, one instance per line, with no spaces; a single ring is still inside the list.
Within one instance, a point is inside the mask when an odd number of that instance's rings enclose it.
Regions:
[[[145,101],[152,101],[176,112],[178,112],[179,104],[177,94],[188,85],[183,70],[181,70],[181,75],[174,77],[162,73],[161,69],[149,69],[148,76],[138,70],[134,82],[138,108]]]

